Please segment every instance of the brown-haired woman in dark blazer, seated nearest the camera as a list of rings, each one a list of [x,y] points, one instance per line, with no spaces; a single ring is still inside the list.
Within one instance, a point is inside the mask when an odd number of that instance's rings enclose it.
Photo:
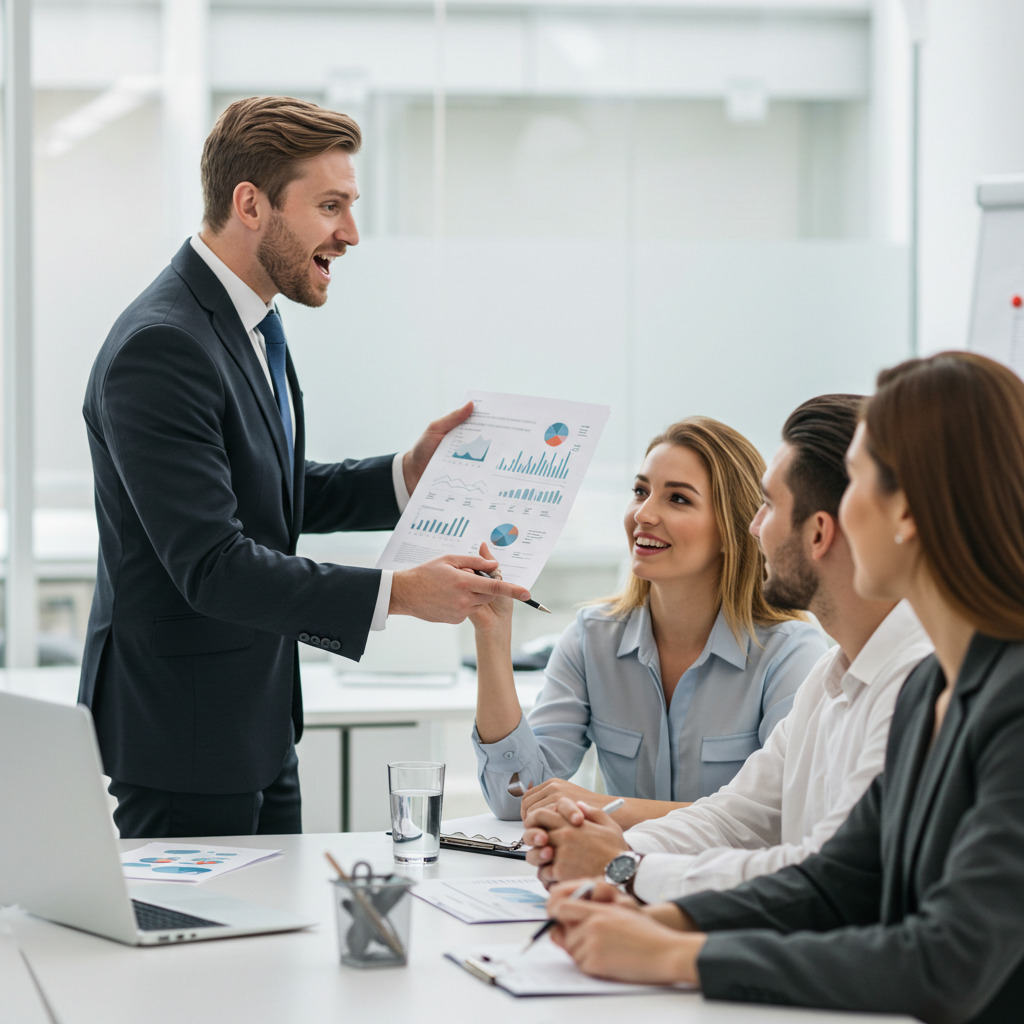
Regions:
[[[904,362],[847,460],[857,591],[906,598],[935,644],[884,772],[818,854],[731,891],[638,908],[558,887],[555,939],[589,974],[712,998],[1019,1024],[1024,382],[966,352]]]

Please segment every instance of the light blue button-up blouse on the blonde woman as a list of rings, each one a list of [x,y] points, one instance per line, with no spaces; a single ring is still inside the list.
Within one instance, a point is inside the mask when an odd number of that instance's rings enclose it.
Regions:
[[[693,801],[728,782],[793,705],[824,653],[810,623],[758,627],[739,643],[720,611],[696,662],[665,706],[647,605],[609,617],[584,608],[562,634],[528,717],[495,743],[473,729],[480,787],[500,818],[519,817],[507,786],[569,778],[597,748],[607,792],[616,797]]]

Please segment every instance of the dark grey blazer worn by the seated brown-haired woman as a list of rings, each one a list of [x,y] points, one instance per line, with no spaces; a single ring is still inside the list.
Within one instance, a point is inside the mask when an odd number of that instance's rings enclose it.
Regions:
[[[883,773],[819,853],[677,901],[713,933],[706,994],[1024,1020],[1024,643],[975,635],[933,746],[944,685],[934,655],[910,674]]]

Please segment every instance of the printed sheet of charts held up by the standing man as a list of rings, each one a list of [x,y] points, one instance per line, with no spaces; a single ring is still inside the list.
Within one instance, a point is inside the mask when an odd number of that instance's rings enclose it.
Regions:
[[[380,569],[475,555],[485,541],[502,578],[531,587],[568,517],[607,406],[470,391],[473,413],[437,446]]]

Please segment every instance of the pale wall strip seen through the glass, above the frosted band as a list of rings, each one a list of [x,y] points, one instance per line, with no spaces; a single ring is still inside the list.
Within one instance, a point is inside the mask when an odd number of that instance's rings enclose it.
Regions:
[[[433,112],[389,106],[394,208],[380,227],[430,233]],[[864,238],[863,122],[860,102],[773,101],[750,123],[721,100],[452,99],[445,234]]]

